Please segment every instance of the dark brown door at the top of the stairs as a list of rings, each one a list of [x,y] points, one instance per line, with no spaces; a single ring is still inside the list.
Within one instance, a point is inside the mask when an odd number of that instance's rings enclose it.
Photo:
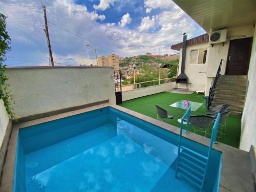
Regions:
[[[231,40],[227,57],[226,75],[247,75],[252,38]]]

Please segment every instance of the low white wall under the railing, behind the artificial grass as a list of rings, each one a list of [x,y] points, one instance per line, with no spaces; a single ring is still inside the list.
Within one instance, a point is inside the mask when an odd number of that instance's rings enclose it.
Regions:
[[[125,91],[122,92],[122,100],[130,100],[130,99],[135,99],[138,97],[143,97],[146,95],[152,95],[156,93],[161,93],[164,91],[169,91],[175,88],[175,82],[170,82],[166,84],[161,84],[160,86],[151,86],[147,88],[140,88],[136,90],[131,90],[131,91]]]

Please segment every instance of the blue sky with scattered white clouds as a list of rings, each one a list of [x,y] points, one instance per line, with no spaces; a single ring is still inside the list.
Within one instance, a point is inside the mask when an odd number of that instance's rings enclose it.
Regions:
[[[175,54],[170,46],[205,31],[170,0],[42,0],[55,65],[96,65],[97,55]],[[14,6],[16,5],[16,6]],[[11,37],[8,66],[47,66],[40,0],[0,1]]]

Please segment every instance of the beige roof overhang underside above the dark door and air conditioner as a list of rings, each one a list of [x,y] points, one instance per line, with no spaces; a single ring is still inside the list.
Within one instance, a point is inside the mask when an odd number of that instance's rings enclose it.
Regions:
[[[208,33],[255,24],[255,0],[173,1]]]

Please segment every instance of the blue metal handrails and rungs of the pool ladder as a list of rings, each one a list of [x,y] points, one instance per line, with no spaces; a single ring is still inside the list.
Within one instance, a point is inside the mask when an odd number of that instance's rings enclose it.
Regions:
[[[219,113],[216,120],[215,120],[215,123],[214,123],[214,126],[212,127],[212,133],[211,133],[211,138],[210,138],[210,144],[209,144],[209,150],[208,150],[208,154],[207,156],[204,156],[202,154],[199,154],[197,153],[196,151],[193,151],[183,145],[181,145],[181,141],[182,141],[182,130],[183,130],[183,121],[184,119],[187,117],[187,126],[186,126],[186,133],[188,133],[188,126],[189,126],[189,118],[190,118],[190,107],[188,108],[188,110],[186,111],[186,113],[183,115],[182,119],[181,119],[181,126],[180,126],[180,137],[179,137],[179,144],[178,144],[178,157],[177,157],[177,164],[176,164],[176,170],[175,170],[175,177],[177,178],[178,177],[178,169],[182,170],[183,172],[186,172],[187,176],[193,178],[194,180],[196,179],[197,181],[199,181],[201,183],[201,185],[193,182],[196,186],[198,186],[200,188],[200,192],[202,191],[203,189],[203,185],[204,185],[204,181],[205,181],[205,176],[206,176],[206,170],[208,168],[208,163],[209,163],[209,158],[210,158],[210,153],[211,153],[211,149],[212,149],[212,143],[217,143],[216,141],[216,137],[217,137],[217,132],[218,132],[218,127],[219,127],[219,121],[220,121],[220,116],[221,114]],[[194,155],[196,155],[197,157],[200,157],[200,158],[203,158],[204,160],[206,160],[206,162],[203,162],[203,166],[204,167],[201,167],[201,169],[203,169],[204,173],[201,175],[202,176],[202,179],[199,179],[194,173],[193,171],[198,174],[198,172],[191,168],[190,167],[190,171],[188,170],[185,170],[184,167],[180,167],[179,166],[179,163],[181,165],[186,165],[185,162],[180,162],[180,151],[181,151],[181,148],[186,152],[190,152],[190,153],[193,153]],[[185,153],[186,154],[186,153]],[[195,157],[193,157],[195,158]],[[183,159],[183,158],[182,158]],[[200,160],[202,161],[202,160]],[[186,159],[186,162],[189,162],[187,161]],[[193,164],[193,162],[189,162],[191,164]],[[198,166],[198,165],[197,165]],[[186,167],[189,167],[189,166],[186,166]],[[192,172],[191,172],[192,170]],[[182,172],[180,172],[181,174],[183,174]],[[184,176],[184,174],[183,174]],[[185,178],[188,180],[188,181],[193,181],[191,179],[189,179],[187,176],[185,176]]]

